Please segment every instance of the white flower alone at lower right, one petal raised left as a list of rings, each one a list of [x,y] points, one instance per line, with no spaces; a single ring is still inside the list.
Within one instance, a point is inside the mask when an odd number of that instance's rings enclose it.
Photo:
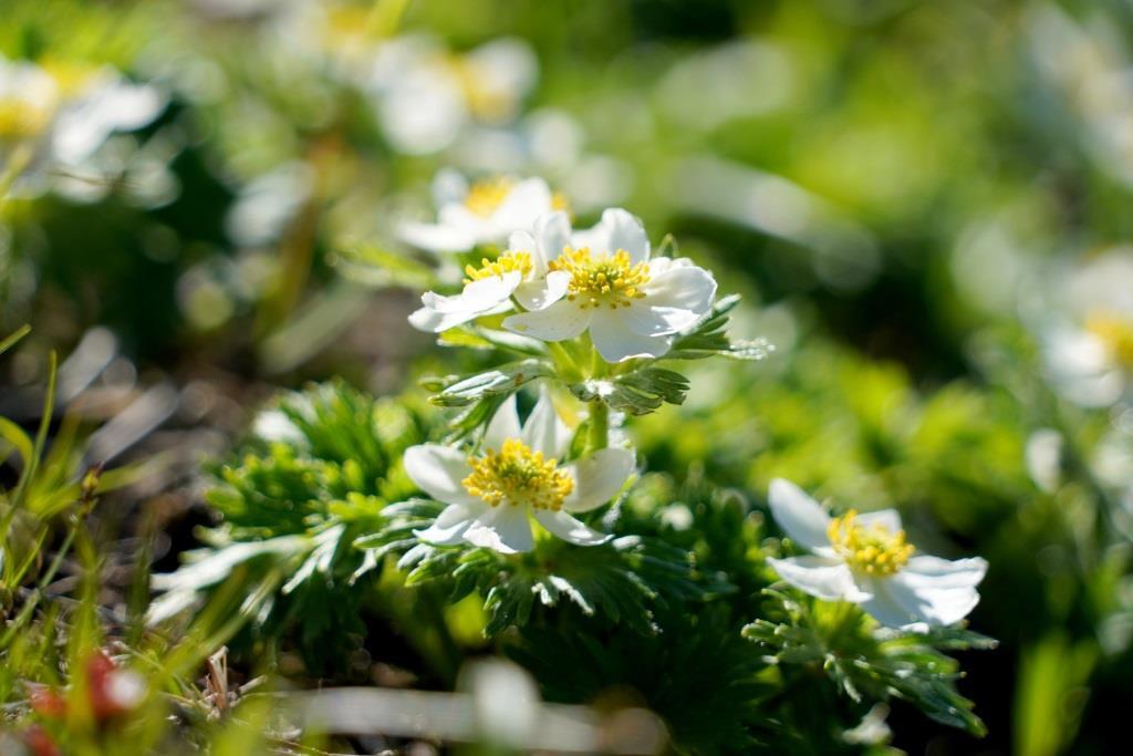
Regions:
[[[768,559],[780,577],[812,596],[861,604],[878,622],[902,629],[959,622],[979,603],[987,572],[979,557],[914,557],[895,510],[830,518],[793,483],[770,485],[775,521],[813,555]]]

